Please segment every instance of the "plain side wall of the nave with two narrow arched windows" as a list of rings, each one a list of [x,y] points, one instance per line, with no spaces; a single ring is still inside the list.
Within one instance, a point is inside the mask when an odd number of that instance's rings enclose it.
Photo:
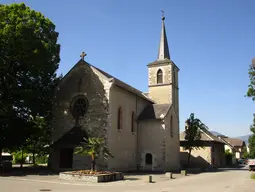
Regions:
[[[118,86],[112,86],[110,91],[110,129],[108,146],[114,158],[108,160],[110,170],[137,169],[137,127],[135,120],[134,132],[131,131],[132,112],[135,117],[142,112],[150,102],[130,93]],[[122,109],[122,129],[118,130],[118,108]],[[139,128],[138,128],[139,130]]]

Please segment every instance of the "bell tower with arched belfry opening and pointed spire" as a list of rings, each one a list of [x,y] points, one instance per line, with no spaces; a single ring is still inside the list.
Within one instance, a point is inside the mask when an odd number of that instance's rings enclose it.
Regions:
[[[170,58],[164,15],[162,15],[158,58],[147,66],[149,77],[148,96],[157,104],[172,104],[176,114],[179,114],[179,68]]]

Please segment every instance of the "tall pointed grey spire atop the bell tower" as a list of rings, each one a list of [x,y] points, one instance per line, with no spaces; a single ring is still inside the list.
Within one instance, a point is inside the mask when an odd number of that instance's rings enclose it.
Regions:
[[[164,11],[162,10],[162,28],[161,28],[161,36],[159,42],[159,50],[158,50],[158,60],[170,59],[168,42],[166,37],[166,29],[165,29],[165,16]]]

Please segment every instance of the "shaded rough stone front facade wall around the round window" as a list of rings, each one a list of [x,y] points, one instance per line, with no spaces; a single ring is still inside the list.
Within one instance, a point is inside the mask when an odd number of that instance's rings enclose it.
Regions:
[[[56,141],[74,127],[75,120],[71,114],[70,106],[77,95],[85,96],[88,99],[88,111],[80,119],[79,124],[89,136],[107,136],[110,87],[111,83],[108,79],[95,68],[84,61],[78,62],[62,79],[56,90],[52,140]],[[105,139],[107,141],[107,138]],[[59,147],[61,148],[61,146]],[[57,153],[58,149],[54,150]],[[57,154],[54,156],[51,160],[55,163],[53,167],[57,168]],[[76,165],[74,167],[77,168]]]

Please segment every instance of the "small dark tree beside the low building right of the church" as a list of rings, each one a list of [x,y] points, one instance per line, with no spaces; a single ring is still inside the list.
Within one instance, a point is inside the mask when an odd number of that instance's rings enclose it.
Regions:
[[[207,130],[207,127],[198,118],[195,118],[194,113],[191,113],[190,117],[186,120],[186,127],[185,127],[184,149],[189,151],[188,166],[189,166],[192,150],[202,147],[201,133],[202,131],[206,131],[206,130]]]

